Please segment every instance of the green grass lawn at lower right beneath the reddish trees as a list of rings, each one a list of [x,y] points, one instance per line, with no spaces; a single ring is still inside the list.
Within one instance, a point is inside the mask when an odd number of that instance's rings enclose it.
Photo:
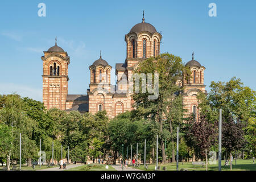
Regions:
[[[224,167],[225,161],[221,161],[221,170],[222,171],[230,171],[230,166]],[[163,170],[163,167],[166,166],[167,171],[176,171],[176,163],[168,163],[168,164],[159,164],[160,169]],[[201,166],[195,166],[193,167],[192,162],[183,162],[183,164],[180,162],[179,163],[179,169],[184,168],[187,169],[188,171],[205,171],[206,166],[201,167]],[[146,170],[144,169],[144,165],[141,165],[139,169]],[[148,170],[152,171],[155,170],[155,164],[149,164],[148,165]],[[208,170],[209,171],[218,171],[218,161],[216,164],[209,165],[208,163]],[[252,159],[239,159],[237,160],[237,165],[236,161],[233,160],[232,164],[232,171],[256,171],[256,163],[253,164]]]

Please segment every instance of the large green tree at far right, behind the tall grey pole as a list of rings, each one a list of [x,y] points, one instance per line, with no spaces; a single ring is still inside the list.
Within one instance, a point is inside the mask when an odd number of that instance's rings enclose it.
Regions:
[[[200,94],[199,100],[200,113],[205,115],[209,122],[218,121],[219,109],[222,109],[223,121],[228,122],[232,127],[233,122],[230,118],[241,122],[243,131],[245,131],[243,135],[247,139],[247,141],[243,140],[241,148],[246,147],[246,142],[252,142],[255,131],[253,127],[248,126],[252,123],[251,119],[255,118],[256,92],[243,86],[240,78],[233,77],[228,82],[212,81],[208,95]],[[247,147],[253,148],[250,145]]]

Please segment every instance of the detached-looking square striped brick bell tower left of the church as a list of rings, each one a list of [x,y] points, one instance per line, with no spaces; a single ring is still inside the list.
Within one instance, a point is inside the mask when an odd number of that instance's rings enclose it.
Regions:
[[[47,109],[65,110],[68,95],[68,53],[55,46],[44,51],[43,60],[43,103]]]

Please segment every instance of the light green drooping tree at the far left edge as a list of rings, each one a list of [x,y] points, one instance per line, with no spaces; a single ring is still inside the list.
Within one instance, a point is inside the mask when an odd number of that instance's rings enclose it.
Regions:
[[[0,121],[11,129],[9,154],[7,154],[7,170],[10,170],[11,156],[18,156],[19,133],[22,133],[23,150],[26,158],[31,158],[37,148],[31,142],[32,131],[36,128],[36,122],[27,116],[23,110],[24,104],[17,94],[7,95],[2,109],[0,109]],[[31,145],[32,144],[32,145]]]

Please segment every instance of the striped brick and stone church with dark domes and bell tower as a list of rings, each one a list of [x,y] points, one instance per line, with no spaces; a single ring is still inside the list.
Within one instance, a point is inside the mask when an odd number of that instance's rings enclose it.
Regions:
[[[86,94],[68,94],[68,65],[71,63],[68,53],[61,47],[55,46],[44,51],[43,60],[43,102],[47,109],[56,107],[60,110],[81,113],[106,110],[110,119],[126,110],[132,110],[133,100],[130,93],[123,93],[128,90],[127,84],[122,84],[122,78],[129,78],[133,75],[141,61],[149,57],[155,57],[160,53],[160,42],[162,35],[150,23],[144,22],[135,24],[125,35],[126,59],[123,63],[115,64],[115,75],[117,84],[110,84],[110,71],[112,66],[108,61],[100,59],[92,61],[90,65],[90,84]],[[177,84],[184,87],[183,102],[184,109],[188,113],[198,115],[197,94],[206,93],[204,85],[204,66],[192,57],[186,64],[191,69],[191,76],[185,76],[177,81]],[[101,86],[101,85],[104,85]],[[197,118],[197,117],[196,117]]]

